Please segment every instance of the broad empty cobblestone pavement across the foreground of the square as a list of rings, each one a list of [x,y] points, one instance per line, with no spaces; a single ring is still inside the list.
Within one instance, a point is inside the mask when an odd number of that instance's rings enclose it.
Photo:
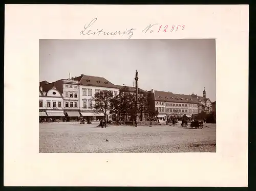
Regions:
[[[39,124],[40,153],[216,152],[216,124],[203,129],[178,126]],[[106,139],[108,141],[106,141]]]

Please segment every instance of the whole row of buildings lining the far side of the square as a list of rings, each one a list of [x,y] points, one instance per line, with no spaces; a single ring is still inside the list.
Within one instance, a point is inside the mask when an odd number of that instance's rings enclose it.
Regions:
[[[93,113],[92,97],[96,92],[110,90],[117,95],[120,89],[135,92],[135,87],[120,86],[102,77],[87,76],[61,79],[49,83],[40,82],[39,85],[39,117],[53,118],[60,121],[77,121],[79,117],[90,117],[90,120],[100,120],[104,115]],[[212,102],[196,94],[185,95],[165,91],[145,91],[139,88],[139,93],[147,93],[153,100],[160,119],[171,115],[197,116],[200,113],[212,112]],[[115,121],[116,114],[109,113],[109,120]]]

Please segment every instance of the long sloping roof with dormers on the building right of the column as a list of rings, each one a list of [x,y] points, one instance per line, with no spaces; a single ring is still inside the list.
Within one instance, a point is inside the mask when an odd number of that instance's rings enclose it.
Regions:
[[[155,91],[155,100],[162,102],[176,102],[176,103],[194,103],[197,104],[192,97],[184,94],[175,94],[166,91]]]

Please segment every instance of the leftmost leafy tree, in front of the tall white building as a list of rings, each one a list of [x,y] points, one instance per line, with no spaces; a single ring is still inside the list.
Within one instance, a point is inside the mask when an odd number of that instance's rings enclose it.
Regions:
[[[111,104],[113,101],[113,92],[112,91],[100,91],[94,94],[93,98],[93,112],[103,113],[106,116],[107,112],[110,112],[113,109]]]

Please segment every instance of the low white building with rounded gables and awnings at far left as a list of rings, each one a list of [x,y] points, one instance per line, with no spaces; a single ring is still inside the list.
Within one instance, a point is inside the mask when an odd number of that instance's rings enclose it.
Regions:
[[[43,85],[43,84],[41,84]],[[46,84],[44,84],[46,85]],[[53,121],[58,119],[63,120],[63,96],[55,86],[44,89],[40,86],[39,89],[39,118],[52,118]]]

